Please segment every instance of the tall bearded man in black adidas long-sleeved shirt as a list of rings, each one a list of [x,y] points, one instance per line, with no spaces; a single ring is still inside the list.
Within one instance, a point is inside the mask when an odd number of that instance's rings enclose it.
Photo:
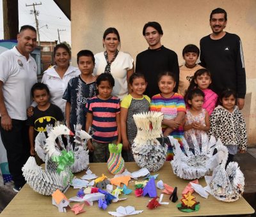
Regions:
[[[223,31],[227,12],[216,8],[210,15],[212,33],[200,40],[201,65],[211,71],[212,90],[220,94],[223,88],[234,89],[239,109],[244,107],[246,77],[242,43],[236,34]]]

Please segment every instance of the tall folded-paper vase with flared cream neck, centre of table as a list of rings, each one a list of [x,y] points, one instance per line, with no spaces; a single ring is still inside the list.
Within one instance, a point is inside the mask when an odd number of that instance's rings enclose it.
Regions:
[[[134,114],[137,135],[132,144],[132,153],[137,165],[156,172],[166,159],[167,145],[161,145],[156,138],[162,136],[163,113],[147,112]]]

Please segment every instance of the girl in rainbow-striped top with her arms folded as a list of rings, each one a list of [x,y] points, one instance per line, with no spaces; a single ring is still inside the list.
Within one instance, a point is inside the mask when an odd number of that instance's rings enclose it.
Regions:
[[[179,141],[182,148],[181,137],[184,135],[182,123],[186,108],[182,95],[173,92],[175,85],[175,75],[173,73],[169,71],[160,73],[158,87],[161,93],[152,96],[150,110],[163,112],[162,130],[164,137],[172,135]],[[166,160],[173,160],[172,146],[168,146]]]

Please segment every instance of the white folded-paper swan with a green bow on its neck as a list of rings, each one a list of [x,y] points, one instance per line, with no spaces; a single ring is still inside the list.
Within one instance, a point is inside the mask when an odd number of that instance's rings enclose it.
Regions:
[[[70,151],[60,151],[55,142],[61,135],[74,135],[67,126],[58,125],[52,128],[46,138],[45,169],[36,165],[34,157],[29,157],[22,167],[23,176],[29,186],[42,195],[51,195],[59,189],[64,191],[72,181],[70,166],[74,163],[74,154]]]

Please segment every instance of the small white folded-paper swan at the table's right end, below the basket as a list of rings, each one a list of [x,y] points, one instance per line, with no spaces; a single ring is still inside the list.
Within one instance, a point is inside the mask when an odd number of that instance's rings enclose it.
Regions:
[[[244,175],[237,162],[230,162],[225,169],[225,163],[221,163],[212,173],[207,184],[211,188],[213,197],[224,202],[238,200],[244,192]],[[206,179],[205,179],[206,181]]]

